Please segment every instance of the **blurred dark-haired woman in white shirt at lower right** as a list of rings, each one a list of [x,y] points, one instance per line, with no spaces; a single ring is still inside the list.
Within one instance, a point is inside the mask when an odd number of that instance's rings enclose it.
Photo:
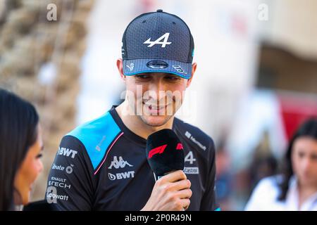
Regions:
[[[245,210],[317,210],[317,118],[299,127],[282,173],[262,179]]]

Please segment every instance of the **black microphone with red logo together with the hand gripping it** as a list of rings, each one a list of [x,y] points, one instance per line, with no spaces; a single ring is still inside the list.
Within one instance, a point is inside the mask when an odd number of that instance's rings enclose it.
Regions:
[[[191,183],[184,169],[182,143],[171,129],[162,129],[147,139],[147,160],[156,176],[156,184],[144,211],[184,211],[192,196]]]

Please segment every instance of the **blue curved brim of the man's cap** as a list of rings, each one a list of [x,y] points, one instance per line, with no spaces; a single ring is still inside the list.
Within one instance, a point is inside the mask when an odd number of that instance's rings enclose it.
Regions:
[[[182,63],[176,60],[161,60],[166,63],[164,66],[149,66],[148,63],[154,61],[154,58],[141,58],[132,60],[123,60],[123,74],[125,76],[137,75],[144,72],[168,72],[189,79],[192,77],[192,63]]]

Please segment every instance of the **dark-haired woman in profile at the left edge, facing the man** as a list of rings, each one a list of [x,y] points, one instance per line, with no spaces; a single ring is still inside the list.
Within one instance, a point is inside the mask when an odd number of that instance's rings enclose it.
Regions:
[[[0,89],[0,210],[26,205],[43,165],[39,116],[33,105]]]

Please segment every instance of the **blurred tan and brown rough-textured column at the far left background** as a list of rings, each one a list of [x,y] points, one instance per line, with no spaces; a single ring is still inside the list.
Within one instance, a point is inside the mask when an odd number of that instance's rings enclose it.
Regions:
[[[94,1],[0,1],[0,86],[37,106],[44,130],[44,172],[34,199],[44,198],[61,137],[75,127],[86,21]],[[48,20],[50,5],[56,20]]]

